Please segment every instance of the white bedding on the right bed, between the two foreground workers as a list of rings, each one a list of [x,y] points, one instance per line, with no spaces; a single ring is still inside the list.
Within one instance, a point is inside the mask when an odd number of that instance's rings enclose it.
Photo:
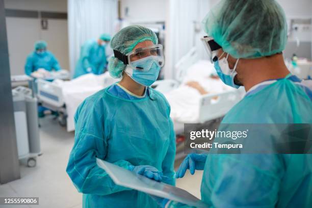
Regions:
[[[198,82],[208,93],[233,90],[220,79],[212,79],[210,77],[212,73],[215,73],[213,64],[209,61],[200,60],[188,69],[183,83],[178,88],[164,94],[170,103],[170,117],[174,123],[195,123],[199,119],[202,95],[198,90],[187,86],[187,82]]]

